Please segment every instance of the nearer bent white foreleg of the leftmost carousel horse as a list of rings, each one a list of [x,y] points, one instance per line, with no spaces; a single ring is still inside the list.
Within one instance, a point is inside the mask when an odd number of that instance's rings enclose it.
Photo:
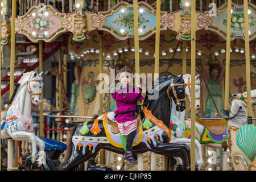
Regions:
[[[35,135],[33,133],[28,133],[26,131],[14,131],[13,133],[9,134],[11,138],[14,140],[19,140],[19,141],[27,141],[28,143],[31,143],[32,146],[32,160],[31,162],[34,163],[36,160],[36,140],[35,140]]]

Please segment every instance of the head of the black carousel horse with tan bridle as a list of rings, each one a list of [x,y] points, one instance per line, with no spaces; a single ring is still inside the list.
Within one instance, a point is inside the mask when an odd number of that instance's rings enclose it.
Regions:
[[[168,86],[167,95],[175,102],[176,110],[183,111],[185,106],[185,87],[183,75],[177,78],[171,78],[171,84]]]

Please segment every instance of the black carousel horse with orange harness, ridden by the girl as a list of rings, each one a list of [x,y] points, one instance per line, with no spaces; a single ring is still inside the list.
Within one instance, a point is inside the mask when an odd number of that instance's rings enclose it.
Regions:
[[[150,100],[155,92],[159,97]],[[182,159],[183,170],[190,168],[190,150],[185,144],[170,143],[171,99],[176,110],[185,110],[185,89],[182,76],[162,76],[151,85],[143,102],[141,120],[133,142],[133,155],[152,151],[164,156]],[[60,165],[60,170],[72,170],[86,162],[101,149],[125,154],[126,137],[119,133],[114,112],[104,113],[97,119],[72,125],[68,142],[67,158]]]

